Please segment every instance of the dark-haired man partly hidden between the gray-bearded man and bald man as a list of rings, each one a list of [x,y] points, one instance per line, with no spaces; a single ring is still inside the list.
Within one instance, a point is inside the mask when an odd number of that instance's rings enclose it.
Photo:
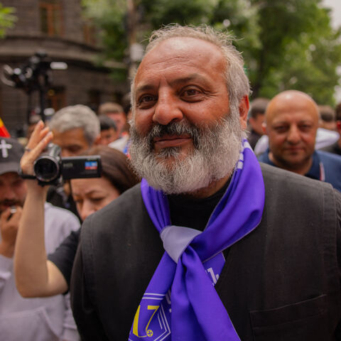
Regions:
[[[251,102],[251,109],[249,112],[249,135],[247,140],[252,149],[256,146],[257,141],[264,135],[263,123],[265,120],[265,110],[269,103],[267,98],[256,98]]]

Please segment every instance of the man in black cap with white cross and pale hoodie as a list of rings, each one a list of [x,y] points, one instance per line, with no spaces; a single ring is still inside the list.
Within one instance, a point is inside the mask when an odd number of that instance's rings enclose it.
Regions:
[[[79,340],[69,296],[22,298],[16,291],[13,254],[27,187],[18,175],[23,147],[0,139],[0,335],[1,340]],[[53,252],[79,222],[72,213],[45,203],[45,248]],[[34,222],[33,222],[34,223]]]

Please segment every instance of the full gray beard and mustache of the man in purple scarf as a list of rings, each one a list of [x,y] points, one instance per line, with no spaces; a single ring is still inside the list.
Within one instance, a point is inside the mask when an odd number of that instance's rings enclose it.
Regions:
[[[189,134],[193,151],[181,158],[180,147],[153,150],[153,139],[164,134]],[[239,110],[232,110],[226,119],[213,126],[193,126],[187,121],[167,126],[153,126],[147,136],[140,136],[131,122],[129,153],[134,170],[156,190],[166,194],[194,193],[211,183],[232,175],[239,160],[244,131],[239,123]],[[172,158],[171,162],[163,159]]]

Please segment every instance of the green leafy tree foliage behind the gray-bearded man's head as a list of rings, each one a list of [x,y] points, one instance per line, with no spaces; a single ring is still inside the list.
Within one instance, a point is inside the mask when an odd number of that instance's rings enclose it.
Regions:
[[[253,97],[273,97],[280,91],[297,89],[308,92],[320,104],[335,104],[341,31],[332,30],[328,10],[321,0],[83,0],[83,3],[87,16],[100,28],[105,58],[129,63],[131,41],[146,43],[148,34],[161,25],[208,23],[232,32],[236,38],[234,44],[244,56]],[[134,4],[133,12],[129,13],[127,3]],[[134,34],[132,27],[136,30]],[[121,77],[126,77],[125,70],[121,70]]]

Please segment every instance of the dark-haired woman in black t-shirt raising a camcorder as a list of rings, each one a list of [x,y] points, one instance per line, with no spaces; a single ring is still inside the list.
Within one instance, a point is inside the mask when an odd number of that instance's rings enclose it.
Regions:
[[[33,174],[34,160],[51,139],[49,129],[44,128],[43,122],[40,122],[28,142],[29,148],[26,148],[21,158],[23,173]],[[82,220],[139,182],[124,153],[107,146],[94,146],[84,153],[94,154],[101,156],[101,178],[71,180],[72,197]],[[39,210],[39,207],[45,202],[48,186],[41,187],[36,180],[26,181],[28,192],[18,229],[14,260],[17,289],[23,297],[65,293],[70,286],[80,229],[72,232],[53,254],[47,256],[44,246],[43,210]]]

